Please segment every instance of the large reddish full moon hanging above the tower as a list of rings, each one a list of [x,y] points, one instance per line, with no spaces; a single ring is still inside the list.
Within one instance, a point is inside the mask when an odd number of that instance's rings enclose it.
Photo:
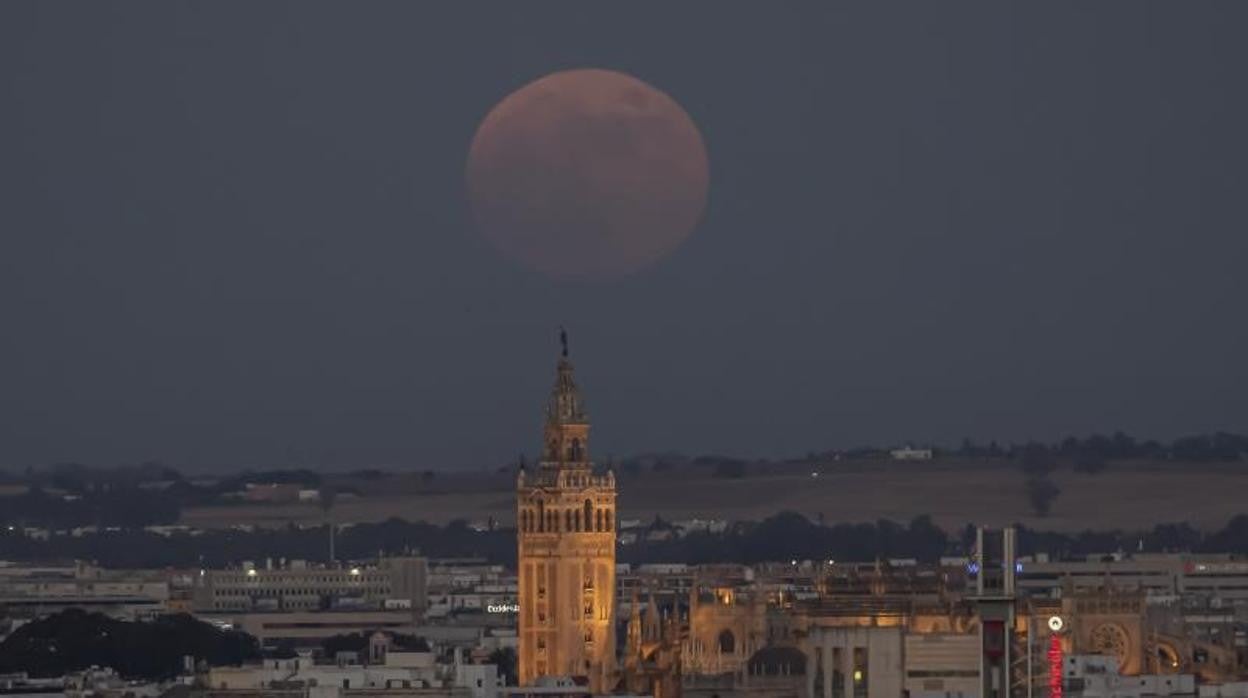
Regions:
[[[706,206],[706,147],[666,94],[610,70],[547,75],[482,121],[468,154],[482,233],[563,280],[613,280],[670,255]]]

